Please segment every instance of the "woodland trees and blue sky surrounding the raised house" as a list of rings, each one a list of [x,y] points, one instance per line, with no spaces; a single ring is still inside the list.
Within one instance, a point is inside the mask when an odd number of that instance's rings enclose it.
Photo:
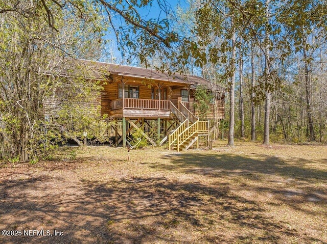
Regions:
[[[2,0],[0,156],[36,162],[85,131],[106,140],[106,118],[85,117],[98,108],[78,106],[101,90],[83,79],[92,71],[78,59],[192,73],[225,87],[230,146],[234,137],[324,143],[326,12],[316,0]],[[62,87],[66,99],[50,119],[43,102]]]

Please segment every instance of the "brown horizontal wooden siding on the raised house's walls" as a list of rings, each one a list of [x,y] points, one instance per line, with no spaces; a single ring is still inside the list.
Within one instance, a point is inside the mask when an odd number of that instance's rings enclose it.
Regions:
[[[159,110],[152,110],[148,109],[148,112],[142,111],[139,108],[130,108],[126,111],[111,111],[111,101],[116,100],[119,98],[119,84],[124,83],[125,85],[134,85],[138,86],[138,94],[139,99],[151,99],[151,88],[157,90],[158,87],[161,89],[167,89],[166,98],[165,100],[171,101],[176,107],[178,107],[179,101],[181,101],[181,90],[189,90],[190,91],[190,102],[188,108],[191,112],[197,115],[197,112],[194,111],[194,88],[199,84],[199,80],[202,82],[207,82],[200,77],[196,76],[189,76],[192,77],[192,80],[188,79],[184,81],[183,78],[180,79],[164,79],[161,80],[157,77],[157,80],[151,79],[151,77],[156,77],[151,73],[147,73],[148,76],[140,77],[140,75],[133,76],[131,70],[133,67],[125,67],[124,70],[126,71],[125,75],[122,73],[111,73],[110,75],[106,76],[108,79],[105,79],[105,76],[95,77],[95,78],[85,78],[90,82],[94,79],[100,80],[101,86],[103,90],[99,93],[95,93],[90,95],[90,97],[85,97],[85,100],[77,98],[74,100],[74,96],[72,98],[72,87],[67,85],[66,87],[62,87],[61,90],[57,89],[52,96],[44,99],[43,107],[44,107],[44,115],[45,116],[52,116],[58,113],[62,104],[67,103],[68,97],[69,99],[73,99],[72,106],[82,106],[86,107],[87,110],[93,108],[100,108],[101,107],[101,115],[107,114],[108,116],[113,116],[115,118],[122,118],[124,117],[144,117],[144,118],[167,118],[169,117],[169,113],[167,111],[159,111]],[[144,70],[143,70],[144,71]],[[155,71],[153,71],[155,72]],[[93,76],[92,76],[93,77]],[[201,84],[201,83],[200,83]],[[190,89],[192,88],[192,89]],[[162,97],[161,97],[162,98]],[[163,99],[160,99],[163,100]],[[219,101],[220,107],[218,109],[218,115],[215,115],[213,109],[211,112],[208,113],[208,118],[214,118],[218,116],[218,118],[224,117],[224,101]],[[176,112],[176,111],[175,111]]]

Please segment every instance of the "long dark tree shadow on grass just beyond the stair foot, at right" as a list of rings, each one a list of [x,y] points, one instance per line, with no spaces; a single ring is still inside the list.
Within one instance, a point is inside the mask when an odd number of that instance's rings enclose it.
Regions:
[[[277,156],[266,156],[256,154],[246,157],[235,154],[213,154],[213,153],[180,153],[166,154],[162,158],[169,159],[171,164],[152,165],[153,168],[165,170],[177,170],[186,173],[203,174],[212,177],[225,177],[226,175],[279,175],[293,177],[296,180],[317,182],[327,180],[325,170],[308,168],[314,162],[303,158],[281,159]],[[325,161],[327,164],[327,160]]]

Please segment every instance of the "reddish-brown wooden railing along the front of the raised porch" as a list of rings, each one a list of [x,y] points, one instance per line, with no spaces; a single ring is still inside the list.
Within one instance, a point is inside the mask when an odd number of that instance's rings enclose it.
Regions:
[[[153,100],[139,98],[119,98],[111,101],[111,110],[119,109],[150,109],[150,110],[169,110],[170,101],[168,100]]]

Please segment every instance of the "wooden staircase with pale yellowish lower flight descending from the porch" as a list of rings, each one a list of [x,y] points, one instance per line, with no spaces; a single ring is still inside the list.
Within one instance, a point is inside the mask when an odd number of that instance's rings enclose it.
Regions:
[[[169,134],[169,150],[173,149],[178,152],[188,150],[195,142],[197,143],[197,148],[199,148],[199,135],[208,133],[209,122],[199,121],[199,118],[182,103],[179,103],[179,107],[180,111],[174,106],[174,109],[178,111],[176,113],[181,113],[186,119]],[[172,113],[174,112],[172,111]]]

